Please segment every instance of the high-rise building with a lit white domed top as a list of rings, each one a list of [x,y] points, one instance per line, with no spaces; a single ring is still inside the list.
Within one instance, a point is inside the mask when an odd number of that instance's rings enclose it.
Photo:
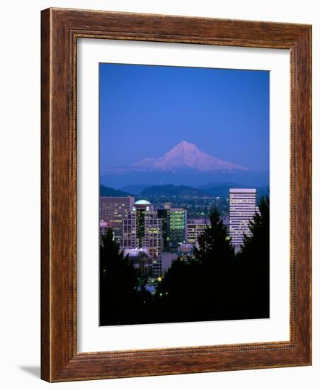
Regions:
[[[162,252],[162,221],[148,201],[135,202],[123,219],[121,245],[123,248],[147,247],[154,258]]]

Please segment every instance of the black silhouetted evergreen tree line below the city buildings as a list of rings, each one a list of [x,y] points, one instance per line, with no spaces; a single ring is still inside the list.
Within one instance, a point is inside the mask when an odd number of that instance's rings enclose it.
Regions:
[[[267,197],[250,230],[235,255],[218,211],[211,211],[194,256],[173,261],[154,295],[108,231],[100,249],[101,325],[268,318]]]

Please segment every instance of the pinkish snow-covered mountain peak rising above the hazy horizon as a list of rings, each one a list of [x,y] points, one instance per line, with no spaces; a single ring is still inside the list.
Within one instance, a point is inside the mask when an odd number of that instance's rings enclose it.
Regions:
[[[220,160],[202,152],[193,143],[183,140],[159,158],[145,158],[135,163],[142,169],[172,171],[177,169],[196,169],[198,171],[248,170],[246,167]]]

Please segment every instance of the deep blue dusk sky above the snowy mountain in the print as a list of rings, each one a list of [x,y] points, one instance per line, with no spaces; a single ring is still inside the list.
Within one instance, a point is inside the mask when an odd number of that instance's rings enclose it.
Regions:
[[[181,140],[269,170],[268,71],[99,67],[101,172],[159,157]]]

